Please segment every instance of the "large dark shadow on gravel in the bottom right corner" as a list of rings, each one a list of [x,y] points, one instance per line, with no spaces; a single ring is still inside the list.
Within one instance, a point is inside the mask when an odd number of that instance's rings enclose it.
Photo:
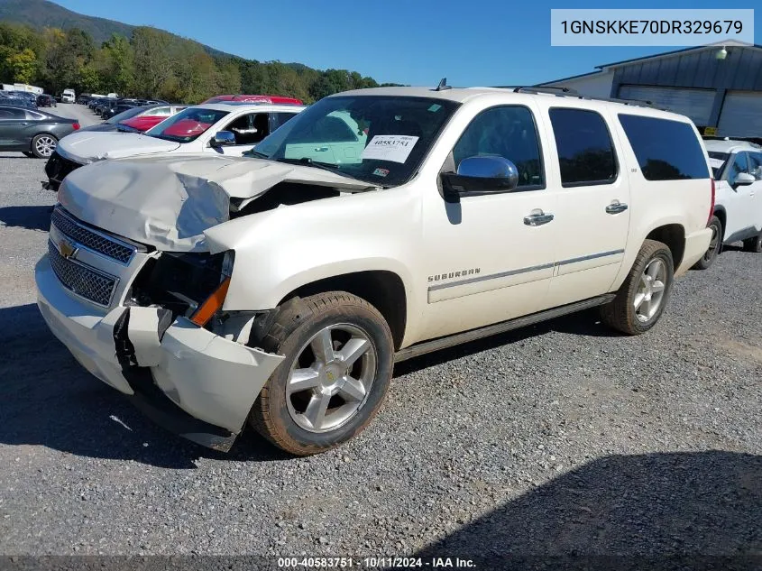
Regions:
[[[762,568],[762,456],[605,456],[423,548],[501,569]]]

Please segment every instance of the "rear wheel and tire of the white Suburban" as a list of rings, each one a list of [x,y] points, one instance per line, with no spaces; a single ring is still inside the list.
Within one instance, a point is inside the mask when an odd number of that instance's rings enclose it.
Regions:
[[[601,307],[601,320],[627,335],[646,333],[664,313],[674,279],[670,249],[646,240],[617,297]]]

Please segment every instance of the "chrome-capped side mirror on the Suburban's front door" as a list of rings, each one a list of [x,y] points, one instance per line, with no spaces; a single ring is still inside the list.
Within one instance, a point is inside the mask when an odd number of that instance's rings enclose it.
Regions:
[[[445,199],[455,202],[461,197],[510,192],[519,186],[516,165],[498,156],[469,157],[461,161],[457,172],[443,172],[440,178]]]

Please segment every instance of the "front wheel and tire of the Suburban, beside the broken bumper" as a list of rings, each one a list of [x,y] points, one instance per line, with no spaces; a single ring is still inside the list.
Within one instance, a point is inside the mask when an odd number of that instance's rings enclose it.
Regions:
[[[390,328],[371,304],[344,291],[289,300],[260,345],[286,359],[262,388],[249,421],[291,454],[317,454],[354,437],[389,389]]]

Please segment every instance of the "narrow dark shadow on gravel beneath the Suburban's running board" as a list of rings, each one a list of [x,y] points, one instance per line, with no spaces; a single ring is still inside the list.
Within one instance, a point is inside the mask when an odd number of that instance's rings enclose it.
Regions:
[[[483,337],[482,339],[464,343],[463,345],[454,345],[453,347],[442,349],[434,353],[414,357],[408,361],[395,364],[394,376],[414,373],[437,364],[444,364],[448,361],[453,361],[454,359],[476,355],[477,353],[482,353],[482,351],[495,349],[501,345],[519,343],[529,337],[546,335],[551,331],[592,337],[622,336],[618,331],[601,323],[597,308],[586,309],[561,318],[549,319],[533,326],[520,327],[519,329],[500,333],[499,335]]]

